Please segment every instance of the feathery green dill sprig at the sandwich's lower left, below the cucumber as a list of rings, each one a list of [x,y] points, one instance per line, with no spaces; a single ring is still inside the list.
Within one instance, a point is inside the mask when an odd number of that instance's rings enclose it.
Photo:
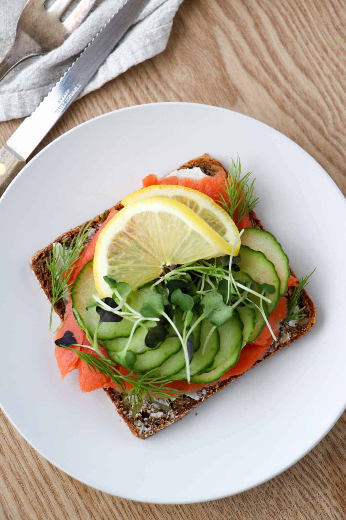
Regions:
[[[73,350],[81,361],[85,361],[89,370],[97,373],[99,372],[107,380],[107,377],[112,380],[118,387],[124,400],[129,401],[129,407],[132,417],[142,408],[144,399],[153,402],[154,398],[161,398],[169,402],[170,397],[174,395],[183,394],[183,391],[176,390],[167,386],[173,380],[171,378],[153,378],[150,372],[140,375],[130,372],[129,374],[122,374],[117,369],[117,363],[109,358],[99,358],[92,354],[76,350],[73,347],[60,345],[62,348]],[[82,346],[82,345],[76,345]],[[129,383],[132,388],[126,388]]]

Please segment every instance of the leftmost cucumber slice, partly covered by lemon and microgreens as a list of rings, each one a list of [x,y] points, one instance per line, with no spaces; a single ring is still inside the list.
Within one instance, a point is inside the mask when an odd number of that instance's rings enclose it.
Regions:
[[[129,294],[127,302],[132,308],[139,311],[143,302],[152,293],[149,287],[133,291]],[[93,294],[98,294],[94,283],[93,261],[90,260],[80,271],[71,290],[72,305],[78,310],[82,320],[91,336],[94,335],[96,325],[100,316],[96,313],[95,307],[86,310],[88,305],[94,303]],[[98,339],[112,340],[115,337],[129,336],[133,327],[133,322],[124,318],[119,322],[101,323]]]

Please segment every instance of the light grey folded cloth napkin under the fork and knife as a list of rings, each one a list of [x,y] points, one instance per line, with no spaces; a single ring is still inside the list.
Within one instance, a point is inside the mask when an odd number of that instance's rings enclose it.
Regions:
[[[12,44],[17,17],[25,2],[0,0],[0,61]],[[136,63],[161,53],[167,45],[174,15],[182,2],[151,0],[137,23],[108,56],[79,97],[101,87]],[[80,51],[123,3],[124,0],[99,0],[89,17],[61,47],[46,55],[29,58],[9,72],[0,82],[0,121],[31,114]]]

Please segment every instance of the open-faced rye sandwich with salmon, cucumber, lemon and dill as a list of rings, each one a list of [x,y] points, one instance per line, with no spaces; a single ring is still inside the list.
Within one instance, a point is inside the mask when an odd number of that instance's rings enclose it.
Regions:
[[[140,438],[182,419],[315,323],[239,158],[209,155],[143,188],[31,259],[62,320],[62,378],[103,388]],[[279,238],[279,237],[278,237]]]

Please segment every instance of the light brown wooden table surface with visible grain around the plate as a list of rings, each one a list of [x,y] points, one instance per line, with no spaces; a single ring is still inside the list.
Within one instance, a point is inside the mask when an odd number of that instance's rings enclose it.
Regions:
[[[35,153],[110,110],[194,101],[237,110],[283,132],[345,194],[345,47],[342,0],[185,0],[167,49],[75,102]],[[0,123],[1,146],[19,123]],[[255,489],[203,504],[145,504],[65,475],[1,414],[0,518],[346,518],[345,452],[346,413],[305,458]]]

